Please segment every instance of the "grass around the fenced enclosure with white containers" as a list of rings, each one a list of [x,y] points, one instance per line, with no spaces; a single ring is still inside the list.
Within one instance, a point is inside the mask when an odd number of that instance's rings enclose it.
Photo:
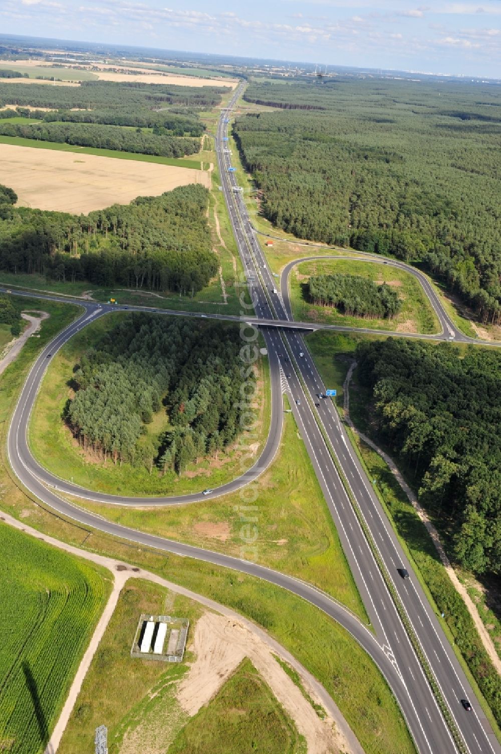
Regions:
[[[152,737],[162,741],[163,750],[169,746],[188,721],[176,700],[176,684],[188,670],[191,652],[182,663],[166,663],[131,658],[130,648],[141,613],[188,618],[191,633],[202,609],[151,581],[127,581],[78,694],[60,754],[93,754],[94,731],[103,720],[110,754]]]

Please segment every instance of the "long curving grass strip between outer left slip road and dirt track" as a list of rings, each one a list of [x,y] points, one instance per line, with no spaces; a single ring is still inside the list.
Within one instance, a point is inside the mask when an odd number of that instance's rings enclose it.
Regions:
[[[33,305],[41,308],[42,302]],[[61,310],[69,306],[57,305]],[[72,311],[66,320],[72,318]],[[53,335],[55,319],[41,325],[41,338],[30,340],[17,362],[2,375],[4,388],[0,418],[8,418],[35,353]],[[63,325],[60,321],[59,328]],[[6,389],[5,389],[6,388]],[[0,422],[0,447],[5,446],[5,423]],[[2,454],[2,508],[27,525],[77,547],[123,559],[157,572],[177,584],[240,611],[289,649],[338,703],[362,747],[371,754],[411,754],[414,744],[399,707],[379,670],[349,634],[312,605],[292,593],[255,578],[190,558],[119,541],[56,516],[37,504],[15,483]]]

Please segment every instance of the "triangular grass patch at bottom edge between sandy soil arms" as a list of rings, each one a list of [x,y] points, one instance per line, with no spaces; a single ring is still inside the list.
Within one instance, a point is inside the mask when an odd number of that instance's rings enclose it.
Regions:
[[[307,746],[251,661],[245,659],[167,749],[167,754],[182,752],[307,754]]]

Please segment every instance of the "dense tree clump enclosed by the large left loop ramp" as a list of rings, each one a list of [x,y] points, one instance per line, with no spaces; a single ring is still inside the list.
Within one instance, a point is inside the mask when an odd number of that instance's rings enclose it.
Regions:
[[[234,326],[132,314],[75,364],[63,420],[103,461],[182,474],[242,429],[240,345]],[[166,428],[145,437],[158,412]]]

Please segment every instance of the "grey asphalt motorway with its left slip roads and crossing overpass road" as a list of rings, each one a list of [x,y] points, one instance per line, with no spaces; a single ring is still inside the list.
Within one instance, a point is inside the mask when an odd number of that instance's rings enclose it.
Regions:
[[[240,96],[240,91],[239,87],[234,93],[230,109]],[[79,329],[95,320],[96,317],[100,317],[111,311],[112,307],[97,305],[92,302],[78,302],[84,305],[84,314],[75,323],[67,327],[63,333],[60,333],[50,345],[47,345],[37,360],[35,360],[21,391],[8,432],[8,456],[14,473],[17,474],[23,485],[34,495],[60,513],[69,516],[73,520],[77,520],[83,526],[100,529],[109,534],[145,546],[160,548],[182,556],[195,557],[218,566],[225,566],[257,576],[258,578],[264,578],[312,602],[347,628],[352,636],[373,657],[389,682],[397,700],[399,700],[418,751],[433,752],[433,754],[456,752],[457,748],[454,745],[448,726],[441,716],[435,697],[429,688],[429,684],[426,681],[423,670],[396,611],[396,606],[374,559],[371,547],[369,547],[356,513],[350,503],[350,498],[348,498],[343,483],[338,476],[334,461],[331,458],[320,429],[322,426],[323,431],[328,435],[328,440],[341,463],[344,475],[359,503],[359,507],[365,517],[365,522],[371,530],[374,541],[377,543],[380,557],[383,559],[387,571],[393,578],[393,583],[401,596],[409,621],[414,626],[423,652],[428,659],[429,666],[432,667],[435,679],[441,687],[442,694],[456,721],[457,728],[459,728],[463,736],[466,750],[468,752],[475,752],[475,754],[476,752],[501,754],[501,746],[499,746],[499,742],[496,740],[487,719],[485,719],[481,706],[478,704],[478,700],[475,699],[472,688],[466,680],[466,676],[455,657],[454,651],[452,651],[448,639],[444,635],[441,625],[429,605],[419,581],[406,559],[402,547],[393,533],[393,529],[386,519],[385,513],[380,507],[371,483],[359,464],[355,452],[353,452],[350,440],[344,431],[344,426],[339,420],[335,406],[331,403],[331,400],[319,400],[316,398],[316,394],[325,394],[325,386],[322,384],[313,359],[301,337],[298,323],[292,323],[291,321],[286,285],[288,273],[283,276],[280,290],[276,290],[275,292],[276,283],[273,274],[270,272],[261,247],[258,244],[241,192],[234,190],[237,188],[234,173],[228,173],[230,154],[225,151],[226,142],[223,140],[226,138],[228,124],[225,121],[227,120],[228,117],[225,117],[225,113],[223,113],[218,124],[216,140],[222,189],[225,194],[246,277],[249,281],[249,293],[252,296],[256,314],[255,317],[247,317],[246,312],[243,311],[242,317],[235,317],[235,319],[240,319],[244,322],[248,321],[249,323],[255,322],[260,325],[260,330],[269,354],[272,411],[270,434],[261,457],[255,466],[243,478],[234,480],[228,485],[212,492],[212,496],[238,489],[239,486],[255,479],[269,465],[280,443],[283,425],[282,392],[285,391],[289,394],[301,437],[304,440],[316,476],[338,529],[341,544],[368,611],[374,633],[371,633],[367,627],[364,627],[346,608],[343,608],[335,600],[298,579],[274,572],[252,562],[224,556],[210,550],[201,550],[197,547],[191,547],[179,542],[128,529],[125,526],[109,523],[103,520],[101,516],[88,513],[63,499],[60,495],[61,492],[68,492],[81,498],[89,497],[104,502],[133,505],[179,504],[200,500],[201,498],[201,495],[184,495],[181,498],[116,498],[111,495],[85,491],[78,486],[53,477],[47,470],[44,470],[36,463],[29,452],[26,440],[29,415],[32,411],[41,379],[48,363],[50,363],[50,357],[53,357],[57,350],[78,332]],[[380,260],[377,259],[377,261]],[[398,262],[396,264],[400,265]],[[405,269],[409,269],[407,265],[405,265]],[[424,279],[426,280],[426,277]],[[424,283],[423,287],[425,287]],[[426,290],[426,287],[425,290],[435,308],[433,299],[435,292],[431,286],[429,288],[432,294]],[[35,294],[30,293],[29,295],[34,296]],[[60,300],[67,302],[69,299]],[[461,333],[458,333],[454,329],[451,320],[448,320],[447,315],[441,309],[439,300],[436,299],[436,302],[438,309],[435,308],[435,311],[437,311],[441,322],[442,333],[441,336],[432,337],[434,339],[437,339],[437,337],[448,339],[450,337],[449,328],[453,328],[454,339],[463,340],[465,336],[462,336]],[[128,308],[133,309],[134,307],[130,306]],[[140,311],[145,311],[145,308],[141,308]],[[182,313],[179,311],[161,311],[164,314],[200,316],[200,314]],[[209,317],[209,315],[204,316]],[[225,317],[225,319],[234,319],[234,317]],[[301,324],[304,325],[304,329],[313,329],[316,327],[308,323]],[[338,328],[330,326],[328,329]],[[373,330],[368,330],[368,332],[374,333]],[[383,334],[389,335],[390,333],[384,331]],[[423,336],[418,337],[422,338]],[[314,407],[313,403],[319,403],[319,406]],[[211,495],[208,496],[209,499],[210,497]],[[410,574],[408,580],[404,581],[399,577],[397,569],[400,567],[408,569]],[[466,713],[460,705],[460,699],[465,697],[472,701],[472,713]]]

